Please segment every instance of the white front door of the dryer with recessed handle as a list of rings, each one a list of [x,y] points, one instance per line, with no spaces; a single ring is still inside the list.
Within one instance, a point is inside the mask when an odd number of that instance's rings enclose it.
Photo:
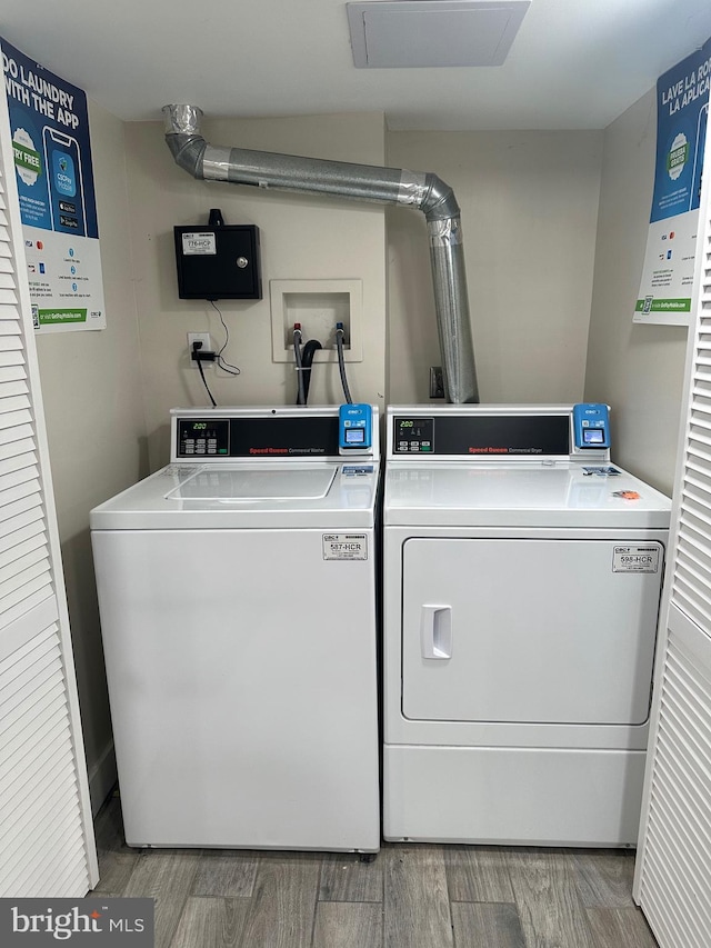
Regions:
[[[643,724],[662,561],[644,538],[407,540],[404,716]]]

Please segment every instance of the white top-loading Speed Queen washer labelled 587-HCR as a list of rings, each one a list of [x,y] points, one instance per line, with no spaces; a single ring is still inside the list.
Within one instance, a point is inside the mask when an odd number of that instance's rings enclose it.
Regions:
[[[130,846],[379,849],[372,410],[174,410],[91,512]]]

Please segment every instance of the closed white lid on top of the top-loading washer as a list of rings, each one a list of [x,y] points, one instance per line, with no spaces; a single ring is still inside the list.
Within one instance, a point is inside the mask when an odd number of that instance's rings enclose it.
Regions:
[[[166,495],[167,500],[222,500],[239,503],[248,500],[303,500],[326,497],[336,465],[273,465],[249,468],[206,469],[196,471]]]

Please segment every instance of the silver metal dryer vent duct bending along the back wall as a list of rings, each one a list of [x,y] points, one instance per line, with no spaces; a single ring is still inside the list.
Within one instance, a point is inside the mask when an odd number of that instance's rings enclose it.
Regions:
[[[419,208],[430,236],[444,392],[454,403],[479,401],[460,210],[449,184],[431,173],[216,147],[200,134],[197,106],[166,106],[163,114],[168,147],[194,178]]]

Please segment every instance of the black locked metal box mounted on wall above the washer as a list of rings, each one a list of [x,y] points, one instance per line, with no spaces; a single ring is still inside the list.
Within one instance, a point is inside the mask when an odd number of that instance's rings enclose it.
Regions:
[[[259,228],[176,227],[181,300],[260,300]]]

